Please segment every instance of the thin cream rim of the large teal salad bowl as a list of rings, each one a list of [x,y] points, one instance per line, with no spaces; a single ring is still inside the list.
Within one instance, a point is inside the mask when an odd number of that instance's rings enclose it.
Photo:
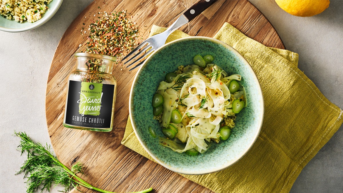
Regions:
[[[134,121],[134,118],[132,116],[132,99],[133,99],[133,88],[135,87],[136,83],[137,83],[137,79],[140,75],[140,72],[142,71],[142,69],[147,65],[147,63],[149,63],[151,57],[153,57],[155,54],[157,54],[160,50],[168,47],[169,45],[171,44],[175,44],[177,42],[181,42],[181,41],[187,41],[189,39],[202,39],[202,40],[206,40],[206,41],[211,41],[211,42],[214,42],[216,44],[221,44],[223,45],[225,48],[229,49],[230,51],[234,52],[240,59],[242,59],[243,63],[253,72],[252,75],[254,76],[253,79],[255,80],[255,82],[257,83],[258,85],[258,88],[257,88],[257,91],[259,92],[259,95],[261,95],[261,113],[262,113],[262,116],[259,120],[259,125],[258,125],[258,132],[256,132],[256,135],[253,137],[253,139],[251,140],[251,143],[249,144],[248,148],[246,148],[244,151],[242,151],[239,155],[235,156],[236,159],[230,161],[230,162],[227,162],[226,164],[224,164],[222,167],[220,168],[217,168],[217,169],[213,169],[213,170],[207,170],[205,172],[197,172],[197,171],[194,171],[194,172],[191,172],[191,173],[185,173],[182,171],[182,169],[179,169],[179,168],[176,168],[176,167],[172,167],[166,163],[164,163],[163,161],[159,160],[154,154],[152,154],[152,152],[144,145],[141,137],[139,136],[137,130],[136,130],[136,123]],[[130,119],[131,119],[131,124],[132,124],[132,127],[133,127],[133,131],[137,137],[137,139],[139,140],[140,144],[143,146],[143,148],[145,149],[145,151],[152,157],[154,158],[154,160],[156,160],[159,164],[161,164],[163,167],[171,170],[171,171],[174,171],[174,172],[177,172],[177,173],[182,173],[182,174],[187,174],[187,175],[201,175],[201,174],[208,174],[208,173],[213,173],[213,172],[218,172],[218,171],[221,171],[221,170],[224,170],[230,166],[232,166],[234,163],[236,163],[238,160],[240,160],[241,158],[243,158],[247,152],[251,149],[252,145],[255,143],[255,141],[257,140],[257,137],[259,136],[260,134],[260,131],[261,131],[261,127],[262,127],[262,123],[263,123],[263,117],[264,117],[264,99],[263,99],[263,94],[262,94],[262,89],[261,89],[261,85],[260,85],[260,82],[258,81],[258,78],[256,76],[256,73],[255,71],[252,69],[252,67],[250,66],[250,64],[248,63],[248,61],[237,51],[235,50],[233,47],[227,45],[226,43],[218,40],[218,39],[214,39],[214,38],[210,38],[210,37],[204,37],[204,36],[191,36],[191,37],[184,37],[184,38],[180,38],[180,39],[176,39],[172,42],[169,42],[165,45],[163,45],[162,47],[158,48],[155,50],[155,52],[153,52],[143,63],[143,65],[139,68],[138,72],[136,73],[135,77],[134,77],[134,80],[133,80],[133,83],[132,83],[132,86],[131,86],[131,91],[130,91],[130,97],[129,97],[129,113],[130,113]],[[176,153],[176,152],[175,152]],[[203,170],[202,170],[203,171]]]

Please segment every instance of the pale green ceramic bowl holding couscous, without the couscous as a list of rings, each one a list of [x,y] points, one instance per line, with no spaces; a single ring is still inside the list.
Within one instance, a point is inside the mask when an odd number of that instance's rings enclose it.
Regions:
[[[52,18],[52,16],[54,16],[58,8],[60,8],[62,1],[63,0],[52,0],[49,4],[47,4],[50,10],[46,10],[46,12],[42,15],[42,18],[33,23],[27,21],[19,23],[13,19],[8,20],[0,15],[0,30],[5,32],[23,32],[39,27]]]

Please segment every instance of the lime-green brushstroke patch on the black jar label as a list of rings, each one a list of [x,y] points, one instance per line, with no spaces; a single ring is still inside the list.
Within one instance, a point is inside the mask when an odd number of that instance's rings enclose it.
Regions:
[[[83,115],[100,115],[103,84],[81,82],[79,113]]]

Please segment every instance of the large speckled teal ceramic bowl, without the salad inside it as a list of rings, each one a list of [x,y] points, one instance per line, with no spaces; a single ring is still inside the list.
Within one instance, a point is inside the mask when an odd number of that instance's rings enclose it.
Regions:
[[[237,114],[236,126],[228,140],[212,143],[204,154],[189,156],[159,145],[158,137],[153,138],[148,128],[151,126],[157,136],[164,136],[161,126],[153,119],[152,97],[166,73],[174,72],[180,65],[193,64],[197,54],[213,55],[213,63],[229,75],[242,75],[248,105]],[[234,48],[209,37],[181,38],[158,48],[137,72],[129,103],[132,126],[144,149],[162,166],[183,174],[212,173],[237,162],[257,139],[264,113],[261,87],[249,63]]]

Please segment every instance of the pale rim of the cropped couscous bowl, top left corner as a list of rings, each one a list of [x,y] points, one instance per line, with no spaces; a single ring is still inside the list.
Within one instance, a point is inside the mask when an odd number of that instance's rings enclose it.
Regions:
[[[63,0],[54,0],[54,1],[59,1],[57,6],[52,8],[52,9],[50,9],[51,12],[49,11],[48,14],[45,12],[43,17],[40,20],[38,20],[36,22],[33,22],[32,25],[29,25],[29,26],[26,26],[26,27],[21,27],[21,28],[8,28],[8,27],[1,27],[0,26],[0,30],[4,31],[4,32],[24,32],[24,31],[35,29],[36,27],[39,27],[39,26],[43,25],[44,23],[49,21],[52,18],[52,16],[55,15],[55,13],[61,7],[61,4],[63,2]],[[0,17],[2,17],[2,15],[0,15]],[[16,22],[14,20],[11,20],[11,21]]]

